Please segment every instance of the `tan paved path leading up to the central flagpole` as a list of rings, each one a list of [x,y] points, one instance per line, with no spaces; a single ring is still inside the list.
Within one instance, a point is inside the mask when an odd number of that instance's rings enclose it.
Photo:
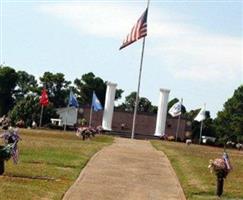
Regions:
[[[167,157],[149,141],[116,138],[98,152],[64,200],[185,200]]]

